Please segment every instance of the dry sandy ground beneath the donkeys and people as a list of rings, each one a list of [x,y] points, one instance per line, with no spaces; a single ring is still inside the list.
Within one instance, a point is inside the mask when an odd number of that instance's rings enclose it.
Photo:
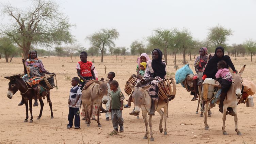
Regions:
[[[106,78],[104,67],[108,71],[116,73],[115,79],[119,82],[121,89],[124,89],[125,82],[135,73],[136,58],[133,56],[106,56],[104,63],[100,63],[100,57],[88,57],[89,61],[94,59],[95,66],[98,70],[99,77]],[[39,107],[33,107],[34,122],[23,123],[26,117],[25,105],[17,106],[21,100],[20,93],[17,92],[12,99],[7,98],[8,82],[4,76],[12,76],[21,74],[23,66],[21,58],[14,58],[13,62],[5,63],[4,59],[0,60],[0,144],[126,144],[126,143],[148,143],[142,139],[145,134],[145,125],[142,116],[137,119],[136,116],[130,116],[131,108],[123,110],[124,132],[118,135],[109,136],[113,130],[111,121],[105,121],[105,114],[101,114],[100,122],[102,127],[97,127],[97,122],[93,121],[90,127],[87,127],[83,120],[80,122],[81,129],[66,129],[68,123],[68,96],[71,87],[67,77],[77,76],[76,62],[80,59],[73,58],[75,62],[71,63],[69,57],[41,58],[44,66],[50,72],[57,75],[58,87],[51,90],[51,100],[53,107],[54,118],[50,118],[50,109],[47,101],[44,100],[45,106],[43,115],[40,120],[36,117],[39,114]],[[187,59],[189,59],[187,57]],[[167,66],[168,77],[173,77],[175,74],[172,56],[168,56],[169,65]],[[182,56],[178,55],[178,66],[182,67]],[[243,77],[251,78],[256,82],[256,67],[255,61],[251,62],[250,57],[237,58],[235,61],[232,58],[235,67],[240,70],[242,65],[246,64]],[[193,61],[188,61],[193,67]],[[126,95],[126,99],[128,96]],[[159,114],[153,116],[154,142],[149,143],[256,143],[256,107],[247,108],[244,104],[238,105],[238,128],[242,132],[242,136],[236,135],[234,118],[227,116],[226,130],[229,135],[222,134],[222,114],[218,112],[218,108],[212,109],[212,116],[208,117],[210,130],[204,129],[204,119],[199,114],[195,114],[196,101],[191,101],[192,96],[185,88],[177,85],[177,93],[174,100],[169,103],[169,118],[167,118],[167,135],[159,132]],[[256,99],[254,100],[256,106]],[[99,134],[98,134],[99,133]]]

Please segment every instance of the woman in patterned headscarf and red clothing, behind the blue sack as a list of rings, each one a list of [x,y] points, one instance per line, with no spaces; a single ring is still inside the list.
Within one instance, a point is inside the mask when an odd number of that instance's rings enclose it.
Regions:
[[[205,47],[200,48],[199,54],[195,59],[195,71],[196,73],[203,72],[203,68],[205,67],[207,60],[208,60],[208,50]],[[198,86],[197,86],[197,74],[193,77],[193,84],[194,84],[194,97],[192,98],[192,101],[197,100],[198,96]]]

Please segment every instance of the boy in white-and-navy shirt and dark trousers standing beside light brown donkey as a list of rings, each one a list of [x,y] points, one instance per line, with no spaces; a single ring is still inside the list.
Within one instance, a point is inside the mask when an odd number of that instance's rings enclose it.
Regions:
[[[81,90],[78,87],[79,78],[74,77],[71,80],[71,87],[69,98],[68,98],[68,106],[69,106],[69,113],[68,113],[68,125],[67,128],[72,128],[73,126],[73,119],[75,116],[75,129],[80,128],[80,116],[79,116],[79,108],[81,106]]]

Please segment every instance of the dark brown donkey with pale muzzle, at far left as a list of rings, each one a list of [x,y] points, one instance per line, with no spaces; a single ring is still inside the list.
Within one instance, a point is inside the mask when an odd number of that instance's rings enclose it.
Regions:
[[[25,106],[26,106],[26,119],[24,122],[28,122],[29,114],[28,114],[28,109],[30,111],[30,123],[33,122],[33,115],[32,115],[32,99],[35,99],[37,96],[37,90],[32,89],[27,85],[25,81],[22,80],[20,75],[14,75],[11,77],[4,77],[6,79],[9,79],[9,88],[7,92],[7,97],[12,99],[13,95],[19,90],[22,98],[25,100]],[[51,109],[51,118],[53,118],[53,112],[52,112],[52,103],[50,99],[50,91],[47,90],[45,93],[41,94],[39,97],[39,102],[40,102],[40,113],[37,119],[40,119],[42,116],[43,112],[43,107],[44,107],[44,102],[42,100],[42,97],[46,95],[47,101],[49,102],[49,106]],[[28,108],[28,101],[29,101],[29,108]]]

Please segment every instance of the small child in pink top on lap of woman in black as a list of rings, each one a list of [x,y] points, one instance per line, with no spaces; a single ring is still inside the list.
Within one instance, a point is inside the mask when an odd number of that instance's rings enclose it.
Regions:
[[[224,80],[227,80],[229,82],[232,82],[232,74],[229,72],[229,70],[227,68],[227,63],[225,61],[219,61],[217,63],[217,69],[218,69],[218,72],[216,73],[215,77],[216,79],[224,79]]]

